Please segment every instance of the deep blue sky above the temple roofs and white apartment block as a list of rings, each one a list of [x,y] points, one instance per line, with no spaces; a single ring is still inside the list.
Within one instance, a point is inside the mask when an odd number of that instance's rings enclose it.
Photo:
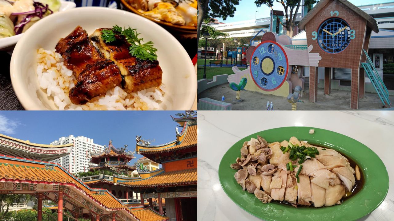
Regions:
[[[0,133],[33,143],[50,144],[62,136],[85,136],[94,143],[134,151],[136,136],[152,145],[175,140],[175,116],[184,111],[0,111]],[[179,131],[180,128],[178,128]],[[142,155],[134,155],[136,162]]]

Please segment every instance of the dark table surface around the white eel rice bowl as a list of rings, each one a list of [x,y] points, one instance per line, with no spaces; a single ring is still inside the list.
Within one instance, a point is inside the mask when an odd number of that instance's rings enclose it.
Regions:
[[[190,59],[197,53],[197,40],[196,39],[179,39],[178,41],[184,46]],[[11,61],[11,52],[0,51],[0,110],[24,110],[20,104],[15,91],[11,84],[9,75],[9,65]],[[197,68],[196,73],[197,73]],[[197,83],[197,82],[196,82]],[[197,110],[197,95],[192,110]]]

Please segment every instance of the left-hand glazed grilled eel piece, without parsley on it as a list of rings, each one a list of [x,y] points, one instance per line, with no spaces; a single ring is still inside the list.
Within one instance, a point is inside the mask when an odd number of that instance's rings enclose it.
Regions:
[[[122,81],[116,64],[101,57],[88,37],[86,31],[78,26],[56,45],[56,52],[61,54],[65,66],[77,79],[75,87],[69,91],[69,98],[74,104],[85,104],[95,96],[102,96]]]

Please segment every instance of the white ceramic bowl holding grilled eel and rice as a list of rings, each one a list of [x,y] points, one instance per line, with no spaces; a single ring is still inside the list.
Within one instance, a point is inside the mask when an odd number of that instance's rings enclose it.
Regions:
[[[166,87],[164,98],[172,103],[167,110],[190,110],[197,93],[197,74],[188,53],[168,31],[139,15],[104,7],[79,7],[43,18],[19,40],[11,57],[10,74],[15,93],[27,110],[57,110],[54,101],[39,87],[37,49],[53,50],[59,39],[76,26],[90,35],[97,28],[114,25],[137,28],[144,42],[157,48]],[[164,106],[163,106],[164,107]]]

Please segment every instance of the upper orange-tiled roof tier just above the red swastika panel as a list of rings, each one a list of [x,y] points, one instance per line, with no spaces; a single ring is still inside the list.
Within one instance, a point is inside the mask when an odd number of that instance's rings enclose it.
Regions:
[[[162,149],[149,149],[149,147],[141,147],[141,150],[139,150],[139,154],[144,155],[144,154],[172,152],[175,150],[186,149],[193,146],[197,146],[197,125],[188,126],[185,134],[185,138],[182,140],[182,142],[179,145],[174,145],[172,147],[167,147]]]

